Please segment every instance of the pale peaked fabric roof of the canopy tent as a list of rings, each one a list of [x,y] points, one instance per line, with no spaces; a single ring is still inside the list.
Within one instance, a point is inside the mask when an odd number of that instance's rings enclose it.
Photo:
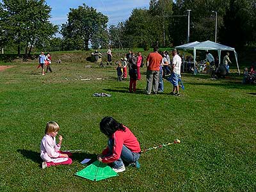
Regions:
[[[179,45],[176,49],[200,49],[200,50],[221,50],[221,51],[235,51],[234,48],[226,45],[221,45],[211,41],[192,42],[190,44]]]

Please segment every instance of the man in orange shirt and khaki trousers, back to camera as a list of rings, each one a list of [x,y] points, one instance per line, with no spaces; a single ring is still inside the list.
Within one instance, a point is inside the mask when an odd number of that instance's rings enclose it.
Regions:
[[[159,83],[159,68],[162,61],[158,47],[154,47],[154,52],[150,52],[147,57],[147,95],[150,95],[153,84],[153,94],[157,94]]]

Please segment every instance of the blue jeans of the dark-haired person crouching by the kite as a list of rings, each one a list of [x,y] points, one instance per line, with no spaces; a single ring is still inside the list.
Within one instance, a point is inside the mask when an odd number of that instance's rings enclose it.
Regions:
[[[112,139],[108,140],[108,148],[109,148],[108,155],[113,154],[113,140]],[[121,166],[124,165],[123,161],[125,161],[126,163],[134,163],[135,161],[138,161],[139,158],[140,158],[140,154],[131,152],[131,150],[129,150],[129,148],[127,148],[127,147],[125,147],[125,145],[123,145],[121,157],[119,159],[117,159],[116,161],[114,161],[112,163],[112,166],[113,166],[113,168],[120,168]]]

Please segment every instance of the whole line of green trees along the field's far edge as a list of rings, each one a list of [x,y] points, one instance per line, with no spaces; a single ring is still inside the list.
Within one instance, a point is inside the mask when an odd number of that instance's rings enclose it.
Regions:
[[[0,47],[24,51],[170,47],[193,41],[214,41],[236,47],[256,44],[256,0],[150,0],[149,8],[135,8],[125,22],[108,27],[108,17],[82,4],[71,8],[60,28],[52,24],[45,0],[2,0]],[[218,17],[216,17],[216,15]],[[62,38],[54,35],[60,33]]]

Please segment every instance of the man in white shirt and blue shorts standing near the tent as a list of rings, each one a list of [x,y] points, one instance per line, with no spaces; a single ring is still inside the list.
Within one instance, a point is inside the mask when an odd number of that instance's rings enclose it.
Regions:
[[[181,58],[179,54],[177,53],[176,49],[173,49],[172,51],[172,75],[170,77],[170,81],[173,84],[173,90],[170,93],[170,95],[180,96],[179,93],[179,79],[180,79],[180,67],[181,67]]]

